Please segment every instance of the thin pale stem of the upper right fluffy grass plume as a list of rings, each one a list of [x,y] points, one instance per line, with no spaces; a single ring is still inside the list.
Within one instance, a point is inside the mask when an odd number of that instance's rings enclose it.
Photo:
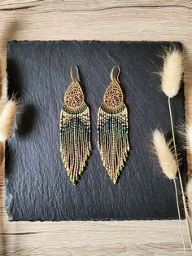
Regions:
[[[178,155],[177,155],[177,146],[176,146],[175,132],[174,132],[174,128],[173,128],[172,107],[171,107],[170,99],[171,98],[168,97],[168,109],[169,109],[170,121],[171,121],[171,126],[172,126],[172,142],[173,142],[175,157],[176,157],[176,161],[177,161],[177,169],[178,169],[179,183],[181,186],[182,201],[183,201],[183,205],[184,205],[185,220],[186,220],[186,225],[187,225],[188,236],[190,239],[190,249],[192,250],[190,223],[189,223],[189,218],[188,218],[188,212],[187,212],[186,201],[185,201],[185,193],[184,193],[183,183],[182,183],[182,179],[181,179],[181,171],[180,171],[179,160],[178,160]]]

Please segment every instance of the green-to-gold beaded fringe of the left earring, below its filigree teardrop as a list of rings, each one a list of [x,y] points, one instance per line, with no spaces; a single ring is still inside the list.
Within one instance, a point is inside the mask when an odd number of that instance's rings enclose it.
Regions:
[[[73,110],[63,105],[60,113],[60,150],[72,183],[76,183],[91,150],[89,108]]]

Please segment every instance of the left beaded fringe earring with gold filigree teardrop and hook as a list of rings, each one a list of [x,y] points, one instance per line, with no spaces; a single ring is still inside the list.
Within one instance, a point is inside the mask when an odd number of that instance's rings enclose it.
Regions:
[[[90,151],[90,117],[89,107],[85,104],[80,86],[78,68],[72,83],[64,95],[64,104],[60,113],[60,150],[63,164],[72,183],[76,183],[85,167]]]

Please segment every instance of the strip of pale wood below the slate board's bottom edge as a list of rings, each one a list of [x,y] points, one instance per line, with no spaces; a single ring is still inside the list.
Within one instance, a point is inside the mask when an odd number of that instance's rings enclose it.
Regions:
[[[185,223],[183,222],[185,227]],[[41,228],[40,228],[41,227]],[[9,223],[6,250],[20,255],[181,255],[177,221]],[[184,229],[187,240],[187,232]],[[174,236],[171,236],[171,234]],[[186,244],[190,251],[189,243]],[[33,252],[33,253],[32,253]]]

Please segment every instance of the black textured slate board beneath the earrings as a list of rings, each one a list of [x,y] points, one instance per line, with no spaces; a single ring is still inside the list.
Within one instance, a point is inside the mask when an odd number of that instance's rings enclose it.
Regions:
[[[150,147],[151,130],[170,128],[168,99],[158,90],[155,74],[162,66],[163,46],[169,42],[8,43],[8,92],[20,99],[15,132],[7,143],[6,208],[11,221],[177,218],[173,183],[161,174]],[[97,113],[115,64],[121,67],[129,108],[131,151],[113,185],[97,149]],[[59,112],[71,65],[80,68],[93,144],[76,186],[59,152]],[[177,125],[184,119],[183,87],[172,104]],[[178,138],[177,143],[180,148]],[[185,152],[180,153],[185,179]]]

